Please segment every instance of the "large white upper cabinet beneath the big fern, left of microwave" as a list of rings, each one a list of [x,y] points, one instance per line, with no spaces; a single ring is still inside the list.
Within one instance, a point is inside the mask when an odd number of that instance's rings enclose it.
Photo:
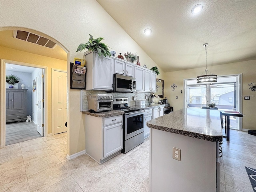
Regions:
[[[113,90],[113,59],[98,56],[97,52],[85,52],[86,90]]]

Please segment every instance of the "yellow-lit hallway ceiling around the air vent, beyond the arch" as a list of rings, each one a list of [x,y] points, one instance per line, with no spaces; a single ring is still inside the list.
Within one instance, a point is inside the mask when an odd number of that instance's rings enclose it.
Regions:
[[[60,46],[56,45],[53,49],[51,49],[13,38],[13,30],[0,31],[0,46],[56,59],[67,60],[67,53]]]

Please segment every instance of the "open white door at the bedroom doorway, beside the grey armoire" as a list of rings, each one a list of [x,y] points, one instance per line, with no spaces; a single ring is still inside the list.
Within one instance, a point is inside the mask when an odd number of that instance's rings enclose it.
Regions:
[[[36,77],[36,118],[37,131],[44,136],[44,70],[40,70]]]

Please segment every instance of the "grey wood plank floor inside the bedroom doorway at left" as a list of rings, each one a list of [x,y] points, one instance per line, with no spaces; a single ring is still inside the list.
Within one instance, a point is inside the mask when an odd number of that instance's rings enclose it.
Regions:
[[[6,124],[6,145],[39,137],[41,137],[41,135],[37,132],[36,124],[33,122],[15,122]]]

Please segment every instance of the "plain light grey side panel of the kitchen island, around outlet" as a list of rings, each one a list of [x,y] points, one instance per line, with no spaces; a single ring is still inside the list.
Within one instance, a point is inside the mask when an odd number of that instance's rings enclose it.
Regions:
[[[172,148],[181,149],[181,161]],[[151,192],[216,192],[216,142],[150,129]]]

